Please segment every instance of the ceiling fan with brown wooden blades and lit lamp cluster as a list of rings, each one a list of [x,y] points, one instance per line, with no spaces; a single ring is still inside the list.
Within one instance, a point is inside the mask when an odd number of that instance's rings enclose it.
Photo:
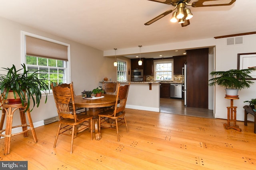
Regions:
[[[186,6],[192,7],[205,7],[205,6],[228,6],[233,4],[236,0],[194,0],[192,4],[189,4],[191,0],[150,0],[154,2],[160,2],[167,5],[172,5],[175,8],[173,10],[168,10],[159,16],[153,18],[152,20],[144,23],[144,25],[150,25],[155,21],[167,16],[177,9],[174,13],[172,13],[171,22],[181,23],[182,27],[188,26],[190,24],[189,19],[193,17],[189,8]]]

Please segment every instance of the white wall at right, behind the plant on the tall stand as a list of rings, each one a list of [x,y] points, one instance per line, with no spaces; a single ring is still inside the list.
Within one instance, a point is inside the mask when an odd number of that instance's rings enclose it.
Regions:
[[[226,71],[237,69],[238,53],[255,53],[256,34],[244,35],[243,44],[226,45],[226,38],[216,39],[216,71]],[[246,100],[256,98],[256,80],[250,88],[242,89],[238,92],[239,100],[234,100],[234,106],[237,106],[237,120],[244,121],[244,103]],[[224,87],[216,86],[216,110],[215,117],[227,119],[227,108],[230,106],[230,100],[225,99]],[[253,120],[251,115],[248,119]]]

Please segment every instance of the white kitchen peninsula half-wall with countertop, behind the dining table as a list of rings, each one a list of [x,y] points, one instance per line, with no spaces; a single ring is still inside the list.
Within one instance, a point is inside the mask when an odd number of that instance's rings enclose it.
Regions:
[[[122,86],[122,84],[129,82],[118,83]],[[126,108],[156,112],[160,111],[160,81],[130,83]]]

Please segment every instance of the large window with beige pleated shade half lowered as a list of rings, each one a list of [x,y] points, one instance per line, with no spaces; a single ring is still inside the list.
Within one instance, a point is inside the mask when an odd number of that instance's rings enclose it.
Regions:
[[[70,82],[70,45],[23,31],[22,37],[23,63],[29,72],[40,70],[39,78],[48,80],[49,89],[52,82]]]

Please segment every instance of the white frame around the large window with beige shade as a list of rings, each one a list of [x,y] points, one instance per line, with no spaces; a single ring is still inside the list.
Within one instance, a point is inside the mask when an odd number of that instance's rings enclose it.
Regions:
[[[25,38],[26,35],[30,36],[30,37],[35,37],[35,38],[38,38],[38,39],[42,39],[42,40],[45,40],[45,41],[49,41],[49,42],[52,42],[52,43],[65,45],[65,46],[68,47],[68,61],[67,61],[67,67],[66,67],[66,81],[67,82],[66,83],[70,83],[71,82],[70,44],[63,43],[61,41],[57,41],[57,40],[54,40],[54,39],[46,38],[46,37],[36,35],[36,34],[33,34],[33,33],[29,33],[29,32],[26,32],[26,31],[21,31],[21,64],[26,63],[26,38]],[[50,90],[50,93],[52,93],[52,90]]]

